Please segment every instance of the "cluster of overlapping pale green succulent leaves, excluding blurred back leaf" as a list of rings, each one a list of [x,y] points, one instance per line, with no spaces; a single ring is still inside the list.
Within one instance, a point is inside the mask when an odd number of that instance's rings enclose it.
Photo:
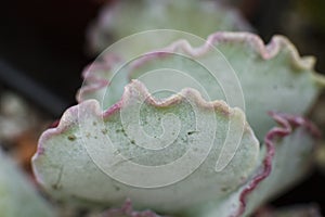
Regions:
[[[235,72],[245,112],[184,56],[219,65],[221,77]],[[79,104],[42,135],[32,159],[37,180],[57,200],[113,208],[127,201],[106,216],[247,216],[310,170],[318,132],[302,116],[325,82],[286,38],[264,46],[252,34],[216,33],[198,48],[177,41],[123,68],[127,54],[104,58],[87,67]],[[183,88],[177,76],[168,78],[179,92],[151,92],[162,77],[143,72],[161,67],[186,72],[206,92]],[[152,212],[132,212],[130,201]]]

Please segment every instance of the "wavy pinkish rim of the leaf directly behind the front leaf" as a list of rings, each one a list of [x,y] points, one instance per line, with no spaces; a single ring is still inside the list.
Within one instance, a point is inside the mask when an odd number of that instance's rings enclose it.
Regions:
[[[286,37],[280,35],[274,36],[268,44],[265,44],[258,35],[251,33],[232,31],[218,31],[211,34],[207,38],[206,42],[197,48],[193,48],[186,40],[179,40],[171,43],[165,49],[147,53],[145,58],[141,59],[138,62],[135,61],[134,67],[141,66],[152,59],[165,56],[161,53],[176,53],[180,50],[184,51],[185,54],[194,58],[202,56],[207,54],[211,50],[211,48],[218,47],[218,44],[222,43],[248,44],[250,49],[252,49],[260,58],[265,61],[275,58],[283,50],[287,50],[290,60],[290,63],[288,64],[290,64],[296,69],[311,71],[312,78],[315,84],[320,85],[320,87],[325,87],[325,77],[321,74],[316,74],[313,69],[315,65],[315,58],[300,56],[296,47]],[[113,53],[107,53],[105,54],[103,60],[87,66],[82,73],[82,77],[87,85],[78,91],[76,97],[77,101],[80,103],[84,101],[84,94],[89,92],[95,92],[102,88],[107,87],[109,85],[109,80],[100,78],[100,76],[96,74],[99,73],[99,71],[110,71],[114,65],[119,63],[121,60],[121,58],[115,56]]]

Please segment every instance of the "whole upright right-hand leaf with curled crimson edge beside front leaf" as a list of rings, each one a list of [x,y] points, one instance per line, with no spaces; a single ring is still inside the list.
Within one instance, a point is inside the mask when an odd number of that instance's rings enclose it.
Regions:
[[[306,177],[318,130],[299,116],[276,113],[271,116],[280,126],[268,132],[255,176],[223,201],[190,209],[187,216],[249,216],[268,200]]]

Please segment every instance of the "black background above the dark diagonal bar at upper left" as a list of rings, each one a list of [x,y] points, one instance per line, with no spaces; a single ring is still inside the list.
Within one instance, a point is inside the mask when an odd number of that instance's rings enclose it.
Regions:
[[[0,60],[60,97],[63,105],[73,104],[81,69],[90,61],[86,28],[100,5],[86,0],[2,1]]]

